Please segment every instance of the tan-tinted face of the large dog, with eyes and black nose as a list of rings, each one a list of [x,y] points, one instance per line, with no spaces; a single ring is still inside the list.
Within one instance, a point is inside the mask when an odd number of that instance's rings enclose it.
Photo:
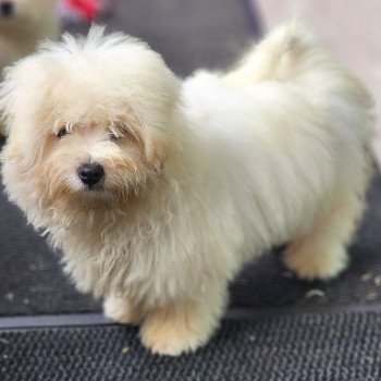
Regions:
[[[169,150],[164,134],[146,126],[127,99],[108,97],[107,89],[98,97],[88,89],[82,93],[77,84],[61,85],[52,98],[62,99],[69,90],[71,99],[45,105],[56,111],[49,121],[53,128],[45,131],[36,147],[40,159],[35,176],[42,180],[46,196],[91,207],[140,195],[162,174]]]

